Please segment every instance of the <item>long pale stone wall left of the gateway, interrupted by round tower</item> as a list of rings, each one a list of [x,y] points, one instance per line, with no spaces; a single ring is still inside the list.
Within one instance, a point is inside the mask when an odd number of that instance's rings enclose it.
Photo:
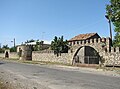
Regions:
[[[5,58],[4,53],[0,53],[0,57]],[[17,52],[10,52],[9,58],[19,59]],[[61,56],[54,55],[53,51],[33,51],[33,61],[57,62],[63,64],[72,64],[73,53],[61,53]]]

